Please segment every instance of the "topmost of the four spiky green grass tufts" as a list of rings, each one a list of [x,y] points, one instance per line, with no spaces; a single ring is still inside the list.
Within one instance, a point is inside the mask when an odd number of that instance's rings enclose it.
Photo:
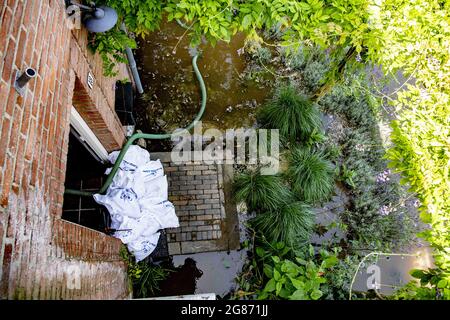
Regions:
[[[265,128],[279,129],[280,136],[293,142],[307,140],[321,129],[320,112],[306,96],[293,86],[282,86],[258,112],[258,121]]]

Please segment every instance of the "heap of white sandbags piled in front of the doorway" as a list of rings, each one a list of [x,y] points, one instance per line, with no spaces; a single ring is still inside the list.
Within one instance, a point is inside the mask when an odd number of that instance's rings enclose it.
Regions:
[[[109,159],[117,160],[118,151]],[[108,169],[108,174],[111,169]],[[111,215],[114,236],[127,245],[136,261],[141,261],[156,248],[160,232],[179,227],[175,207],[168,201],[168,182],[161,161],[150,161],[150,154],[139,146],[131,146],[105,195],[95,194],[95,201]]]

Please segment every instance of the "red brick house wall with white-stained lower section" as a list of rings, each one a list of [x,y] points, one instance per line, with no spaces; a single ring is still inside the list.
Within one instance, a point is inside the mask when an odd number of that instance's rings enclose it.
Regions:
[[[86,31],[70,30],[64,10],[62,0],[0,0],[0,298],[128,295],[120,241],[60,219],[71,106],[108,150],[124,141],[116,79],[102,76]],[[26,67],[38,75],[20,97],[13,80]]]

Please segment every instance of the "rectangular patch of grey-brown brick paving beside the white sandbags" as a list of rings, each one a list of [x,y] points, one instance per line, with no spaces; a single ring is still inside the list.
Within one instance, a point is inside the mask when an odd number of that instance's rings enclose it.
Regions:
[[[169,181],[169,200],[180,227],[167,229],[169,254],[189,254],[239,248],[236,205],[230,197],[232,166],[190,162],[175,165],[170,153],[160,159]]]

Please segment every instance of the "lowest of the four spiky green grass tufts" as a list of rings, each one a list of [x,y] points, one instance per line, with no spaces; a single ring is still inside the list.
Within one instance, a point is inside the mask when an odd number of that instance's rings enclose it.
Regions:
[[[293,249],[299,249],[310,239],[314,212],[303,202],[293,202],[276,211],[258,214],[251,224],[269,242],[283,242]]]

